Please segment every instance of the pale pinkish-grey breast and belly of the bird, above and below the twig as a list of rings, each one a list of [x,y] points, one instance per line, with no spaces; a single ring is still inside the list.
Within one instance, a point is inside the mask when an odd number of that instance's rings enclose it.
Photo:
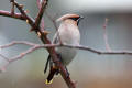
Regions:
[[[58,33],[62,43],[79,45],[80,34],[78,26],[72,23],[62,23]],[[57,47],[57,53],[61,54],[64,65],[68,65],[76,55],[76,48]]]

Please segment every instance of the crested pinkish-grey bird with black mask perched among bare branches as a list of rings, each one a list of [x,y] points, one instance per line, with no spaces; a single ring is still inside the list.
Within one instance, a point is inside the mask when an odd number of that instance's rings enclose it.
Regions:
[[[80,43],[80,32],[78,24],[82,16],[68,13],[64,14],[63,16],[58,18],[56,22],[61,22],[59,28],[56,34],[53,37],[53,44],[72,44],[72,45],[79,45]],[[69,48],[69,47],[55,47],[57,55],[59,56],[62,64],[66,67],[76,56],[77,50]],[[54,62],[52,61],[51,55],[47,57],[47,62],[45,65],[44,73],[47,70],[47,66],[50,63],[50,74],[46,79],[46,84],[51,84],[53,81],[54,75],[58,75],[59,69],[55,66]],[[67,70],[67,68],[66,68]],[[67,72],[68,74],[68,72]],[[69,75],[69,74],[68,74]]]

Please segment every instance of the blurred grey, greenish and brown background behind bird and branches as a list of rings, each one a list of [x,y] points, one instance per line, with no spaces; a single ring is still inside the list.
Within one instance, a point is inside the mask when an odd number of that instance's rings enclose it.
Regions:
[[[35,18],[36,0],[16,0],[24,4],[29,14]],[[9,0],[0,0],[0,10],[10,11]],[[50,0],[47,13],[59,18],[66,13],[84,15],[79,29],[81,45],[99,51],[107,51],[103,40],[103,24],[107,25],[108,42],[112,51],[132,51],[132,1],[131,0]],[[52,40],[55,29],[44,15],[45,29],[51,32]],[[58,23],[59,24],[59,23]],[[40,43],[36,34],[30,31],[26,22],[0,16],[0,45],[12,41]],[[0,53],[12,57],[26,51],[26,45],[15,45]],[[44,48],[37,50],[22,59],[10,64],[7,72],[0,73],[0,88],[67,88],[61,75],[53,84],[45,85],[47,74],[43,74],[48,56]],[[0,66],[7,62],[0,57]],[[132,88],[132,56],[97,55],[88,51],[78,51],[75,61],[68,66],[72,79],[77,88]]]

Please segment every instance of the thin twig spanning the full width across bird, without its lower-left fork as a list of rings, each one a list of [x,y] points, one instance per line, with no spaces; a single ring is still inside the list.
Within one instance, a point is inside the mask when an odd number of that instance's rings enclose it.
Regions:
[[[69,48],[78,48],[78,50],[84,50],[84,51],[89,51],[91,53],[95,53],[95,54],[103,54],[103,55],[132,55],[132,52],[129,52],[129,51],[111,51],[111,52],[102,52],[102,51],[97,51],[95,48],[91,48],[89,46],[84,46],[84,45],[70,45],[70,44],[35,44],[35,43],[31,43],[31,42],[26,42],[26,41],[13,41],[9,44],[4,44],[4,45],[1,45],[0,48],[7,48],[7,47],[10,47],[10,46],[13,46],[15,44],[24,44],[24,45],[29,45],[31,47],[35,47],[34,50],[36,48],[47,48],[47,47],[69,47]],[[34,51],[33,50],[33,51]]]

